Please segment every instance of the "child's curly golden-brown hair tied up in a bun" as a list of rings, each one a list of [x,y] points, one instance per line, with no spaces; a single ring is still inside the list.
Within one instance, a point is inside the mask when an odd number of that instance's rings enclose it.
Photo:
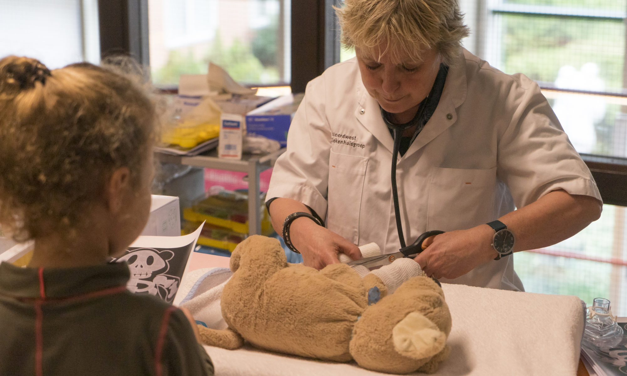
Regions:
[[[17,241],[74,232],[118,167],[140,181],[155,102],[119,67],[0,60],[0,223]]]

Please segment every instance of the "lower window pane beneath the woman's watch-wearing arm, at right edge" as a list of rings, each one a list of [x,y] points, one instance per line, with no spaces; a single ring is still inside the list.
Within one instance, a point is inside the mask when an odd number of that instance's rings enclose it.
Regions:
[[[627,316],[627,209],[603,206],[601,218],[561,243],[514,254],[514,269],[526,291],[576,295],[591,306],[611,301],[614,315]]]

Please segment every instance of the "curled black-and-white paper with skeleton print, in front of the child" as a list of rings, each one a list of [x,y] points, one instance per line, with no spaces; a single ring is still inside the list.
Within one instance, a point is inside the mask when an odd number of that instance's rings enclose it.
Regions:
[[[127,248],[124,256],[112,260],[129,264],[130,279],[127,288],[133,293],[154,295],[172,303],[203,224],[196,231],[184,236],[137,238]]]

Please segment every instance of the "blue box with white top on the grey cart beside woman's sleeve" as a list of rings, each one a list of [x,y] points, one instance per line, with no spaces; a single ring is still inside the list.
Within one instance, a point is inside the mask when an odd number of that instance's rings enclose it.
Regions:
[[[303,93],[283,95],[246,114],[246,133],[277,140],[287,145],[287,131]]]

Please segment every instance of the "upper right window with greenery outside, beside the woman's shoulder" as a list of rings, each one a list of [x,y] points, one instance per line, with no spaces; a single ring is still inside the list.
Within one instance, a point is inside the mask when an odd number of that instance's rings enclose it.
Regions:
[[[536,80],[578,152],[627,156],[627,0],[460,4],[472,28],[466,48],[505,73]]]

